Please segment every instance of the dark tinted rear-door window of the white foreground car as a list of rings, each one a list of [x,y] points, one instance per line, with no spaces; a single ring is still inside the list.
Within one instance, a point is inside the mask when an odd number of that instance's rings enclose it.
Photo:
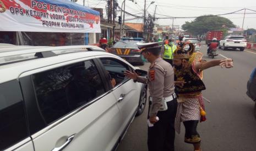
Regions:
[[[40,111],[47,124],[105,92],[93,61],[32,75]]]

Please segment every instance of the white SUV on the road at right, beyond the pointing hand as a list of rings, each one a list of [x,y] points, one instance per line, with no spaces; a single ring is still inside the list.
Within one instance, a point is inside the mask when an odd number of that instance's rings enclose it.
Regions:
[[[226,36],[224,39],[220,40],[219,48],[222,50],[227,50],[228,48],[239,49],[243,51],[246,49],[247,40],[244,36]]]

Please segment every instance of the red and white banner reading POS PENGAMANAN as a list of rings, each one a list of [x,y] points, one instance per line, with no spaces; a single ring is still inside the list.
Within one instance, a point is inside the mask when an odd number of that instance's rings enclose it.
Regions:
[[[68,0],[0,0],[0,31],[100,33],[99,11]]]

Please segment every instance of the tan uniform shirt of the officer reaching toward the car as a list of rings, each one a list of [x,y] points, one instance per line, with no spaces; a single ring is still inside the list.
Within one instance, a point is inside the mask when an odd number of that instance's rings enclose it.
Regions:
[[[175,90],[172,66],[159,57],[151,64],[148,77],[139,76],[137,81],[148,83],[149,94],[152,97],[149,117],[156,116],[163,97],[171,96]]]

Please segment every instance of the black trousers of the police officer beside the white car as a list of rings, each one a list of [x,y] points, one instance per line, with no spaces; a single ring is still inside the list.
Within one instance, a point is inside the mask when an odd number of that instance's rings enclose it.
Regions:
[[[154,126],[148,127],[149,151],[173,151],[175,140],[175,117],[177,111],[177,98],[167,102],[168,109],[159,111]],[[150,107],[149,107],[150,108]]]

